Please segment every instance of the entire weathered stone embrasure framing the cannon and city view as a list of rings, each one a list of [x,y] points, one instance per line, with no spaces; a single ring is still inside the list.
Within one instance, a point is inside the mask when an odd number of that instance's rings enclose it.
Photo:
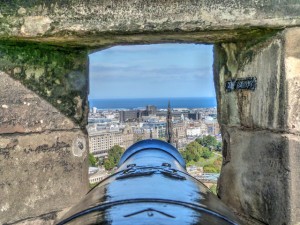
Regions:
[[[3,1],[0,223],[50,223],[86,190],[86,49],[205,42],[217,43],[220,197],[262,223],[299,224],[300,32],[288,28],[299,10],[296,0]],[[254,92],[225,92],[248,76]]]

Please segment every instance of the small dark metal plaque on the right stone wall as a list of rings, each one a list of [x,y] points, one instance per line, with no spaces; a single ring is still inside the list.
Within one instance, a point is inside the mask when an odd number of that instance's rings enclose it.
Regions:
[[[226,81],[225,90],[231,92],[234,90],[250,90],[254,91],[256,89],[256,77],[247,77],[243,79],[232,79]]]

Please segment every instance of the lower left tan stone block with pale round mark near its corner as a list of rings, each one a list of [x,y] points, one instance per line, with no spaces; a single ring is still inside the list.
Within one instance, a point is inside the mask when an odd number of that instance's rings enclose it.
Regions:
[[[60,211],[80,200],[88,190],[88,149],[74,144],[85,138],[80,130],[1,135],[0,223]]]

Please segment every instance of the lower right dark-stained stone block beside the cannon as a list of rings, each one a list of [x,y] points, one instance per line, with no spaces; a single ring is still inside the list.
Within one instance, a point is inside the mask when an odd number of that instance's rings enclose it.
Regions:
[[[289,158],[299,147],[298,136],[238,128],[223,132],[231,157],[219,180],[222,201],[264,224],[292,224],[291,175],[298,175]]]

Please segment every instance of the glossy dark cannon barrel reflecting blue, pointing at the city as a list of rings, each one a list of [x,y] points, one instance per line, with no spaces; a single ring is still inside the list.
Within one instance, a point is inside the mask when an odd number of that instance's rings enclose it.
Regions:
[[[129,147],[115,174],[87,193],[58,223],[112,225],[240,224],[186,172],[172,145],[144,140]]]

